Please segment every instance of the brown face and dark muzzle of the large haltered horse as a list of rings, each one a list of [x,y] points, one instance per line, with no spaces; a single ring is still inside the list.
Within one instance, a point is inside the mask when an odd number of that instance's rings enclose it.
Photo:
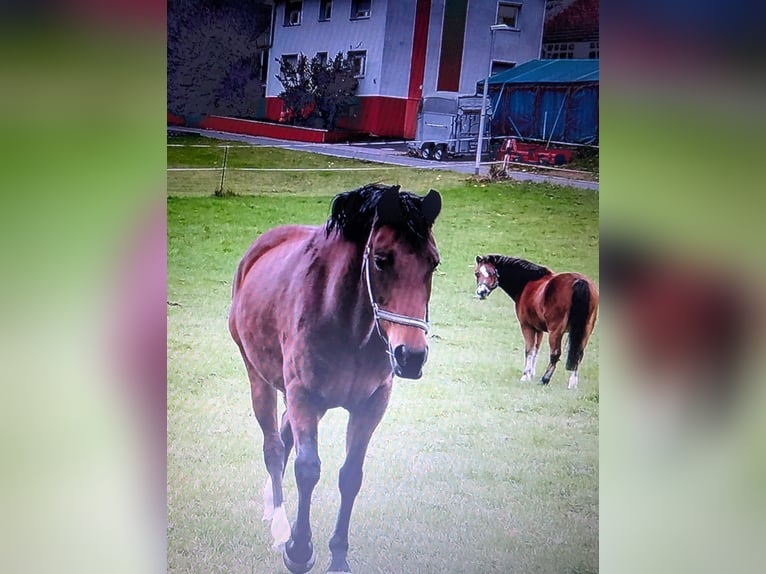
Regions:
[[[428,249],[416,248],[390,227],[381,227],[372,239],[370,272],[375,303],[390,313],[426,319],[431,279],[438,263],[433,241],[429,241]],[[419,379],[428,357],[426,332],[385,317],[379,323],[394,373]]]

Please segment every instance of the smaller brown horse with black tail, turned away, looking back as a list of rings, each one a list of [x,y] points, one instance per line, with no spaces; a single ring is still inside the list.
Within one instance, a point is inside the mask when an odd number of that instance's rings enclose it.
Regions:
[[[537,353],[547,332],[550,363],[541,383],[548,384],[561,356],[561,339],[569,332],[566,368],[572,371],[569,388],[577,388],[577,369],[596,324],[598,290],[593,281],[579,273],[553,273],[547,267],[502,255],[477,255],[474,275],[479,299],[500,287],[516,303],[524,335],[521,380],[535,376]]]

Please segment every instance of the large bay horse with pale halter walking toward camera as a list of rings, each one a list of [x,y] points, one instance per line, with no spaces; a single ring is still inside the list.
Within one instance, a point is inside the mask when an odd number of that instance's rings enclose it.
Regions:
[[[349,419],[329,571],[350,572],[349,520],[367,445],[393,375],[420,378],[428,356],[428,301],[439,263],[431,228],[440,210],[435,190],[420,197],[367,185],[337,195],[323,227],[271,229],[239,263],[229,330],[263,431],[264,519],[294,574],[315,561],[309,510],[320,475],[317,426],[335,407]],[[278,393],[286,405],[281,425]],[[282,479],[293,446],[298,509],[290,526]]]

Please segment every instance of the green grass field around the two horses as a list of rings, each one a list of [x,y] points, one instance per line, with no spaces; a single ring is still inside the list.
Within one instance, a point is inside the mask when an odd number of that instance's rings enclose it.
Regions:
[[[209,152],[169,148],[168,165],[209,165],[199,156]],[[240,165],[251,167],[369,165],[271,148],[241,153]],[[424,376],[395,382],[370,444],[351,521],[352,569],[596,572],[599,326],[578,390],[567,390],[563,365],[547,387],[519,382],[523,342],[512,301],[502,292],[474,297],[473,260],[517,255],[598,280],[598,195],[398,168],[244,172],[232,190],[239,195],[220,198],[211,197],[216,181],[211,186],[207,173],[168,174],[168,571],[287,572],[260,520],[266,471],[244,366],[226,327],[231,278],[259,233],[322,224],[335,193],[383,181],[442,193],[434,226],[442,264]],[[538,376],[547,352],[546,341]],[[344,411],[330,411],[319,428],[316,572],[329,564],[346,420]],[[292,520],[292,465],[285,495]]]

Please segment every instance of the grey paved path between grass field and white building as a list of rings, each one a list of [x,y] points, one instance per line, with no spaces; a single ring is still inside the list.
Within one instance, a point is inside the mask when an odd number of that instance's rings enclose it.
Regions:
[[[399,165],[402,167],[414,167],[420,169],[441,169],[447,171],[456,171],[458,173],[473,174],[475,172],[475,164],[473,161],[429,161],[417,157],[407,155],[406,142],[399,141],[383,141],[383,142],[359,142],[359,143],[333,143],[333,144],[315,144],[305,142],[295,142],[290,140],[280,140],[274,138],[266,138],[259,136],[248,136],[242,134],[232,134],[228,132],[218,132],[213,130],[204,130],[199,128],[187,128],[187,127],[168,127],[169,131],[183,132],[183,133],[195,133],[205,137],[214,139],[225,139],[230,141],[241,141],[250,145],[262,145],[262,146],[276,146],[285,149],[291,149],[296,151],[307,151],[311,153],[319,153],[323,155],[329,155],[334,157],[344,157],[349,159],[358,159],[364,161],[373,161],[378,163],[385,163],[388,165]],[[481,175],[487,175],[489,167],[487,164],[483,164],[479,168]],[[567,177],[557,177],[555,175],[547,175],[540,173],[523,173],[518,171],[510,172],[511,179],[517,181],[533,181],[533,182],[547,182],[556,185],[566,185],[571,187],[577,187],[581,189],[592,189],[598,191],[597,181],[587,181],[579,179],[571,179]]]

